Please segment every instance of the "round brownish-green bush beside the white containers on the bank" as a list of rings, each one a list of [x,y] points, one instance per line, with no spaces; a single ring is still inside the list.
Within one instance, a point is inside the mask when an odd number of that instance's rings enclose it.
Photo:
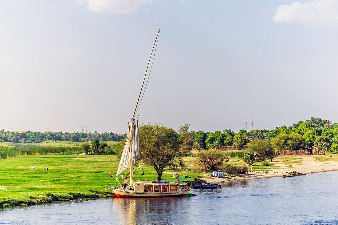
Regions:
[[[201,151],[196,156],[196,163],[204,167],[204,172],[219,170],[223,162],[222,154],[217,149]]]

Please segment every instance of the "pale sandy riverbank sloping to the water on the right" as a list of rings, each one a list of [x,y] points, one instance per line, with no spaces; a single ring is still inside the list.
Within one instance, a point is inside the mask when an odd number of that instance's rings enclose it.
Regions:
[[[290,161],[292,159],[292,161]],[[232,180],[224,178],[203,177],[204,180],[210,183],[220,182],[235,182],[239,180],[251,180],[269,177],[282,177],[288,175],[286,171],[297,171],[300,173],[318,173],[325,171],[338,170],[338,157],[335,156],[288,156],[276,158],[266,171],[256,171],[255,166],[253,171],[241,174],[243,177],[232,177]]]

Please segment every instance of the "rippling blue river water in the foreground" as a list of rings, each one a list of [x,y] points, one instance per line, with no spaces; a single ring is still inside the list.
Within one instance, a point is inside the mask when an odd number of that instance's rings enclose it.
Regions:
[[[98,199],[0,210],[0,224],[338,224],[338,171],[196,190],[197,196]]]

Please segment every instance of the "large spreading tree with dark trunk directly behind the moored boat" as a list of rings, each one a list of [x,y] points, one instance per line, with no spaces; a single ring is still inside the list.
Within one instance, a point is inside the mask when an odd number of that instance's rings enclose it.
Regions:
[[[161,123],[149,123],[139,127],[140,160],[152,165],[161,179],[165,169],[177,170],[185,167],[182,157],[190,154],[190,150],[179,148],[176,131]]]

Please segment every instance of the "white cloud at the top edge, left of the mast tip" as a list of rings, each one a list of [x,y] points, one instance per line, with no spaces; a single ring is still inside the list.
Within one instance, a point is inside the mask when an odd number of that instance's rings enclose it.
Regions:
[[[76,0],[78,4],[87,4],[86,8],[94,13],[130,14],[152,0]]]

